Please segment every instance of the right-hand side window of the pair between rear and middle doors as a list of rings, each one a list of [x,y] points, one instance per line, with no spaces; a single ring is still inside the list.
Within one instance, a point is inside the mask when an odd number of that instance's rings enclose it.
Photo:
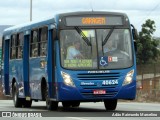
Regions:
[[[18,34],[18,59],[23,57],[23,33]]]

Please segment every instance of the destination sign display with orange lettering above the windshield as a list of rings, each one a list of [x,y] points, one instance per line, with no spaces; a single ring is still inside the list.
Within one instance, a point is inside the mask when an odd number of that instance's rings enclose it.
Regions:
[[[123,25],[121,16],[66,17],[66,26]]]

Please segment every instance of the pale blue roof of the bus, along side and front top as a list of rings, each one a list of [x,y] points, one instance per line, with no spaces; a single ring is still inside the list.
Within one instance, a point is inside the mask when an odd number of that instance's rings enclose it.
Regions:
[[[39,21],[33,21],[28,22],[20,25],[16,25],[10,28],[7,28],[4,30],[3,35],[10,35],[14,33],[20,33],[26,30],[31,30],[36,27],[41,27],[49,24],[56,23],[59,24],[59,19],[66,17],[66,16],[78,16],[78,15],[115,15],[115,16],[125,16],[127,15],[125,13],[120,12],[106,12],[106,11],[82,11],[82,12],[68,12],[68,13],[60,13],[56,14],[55,17],[47,18],[45,20],[39,20]]]

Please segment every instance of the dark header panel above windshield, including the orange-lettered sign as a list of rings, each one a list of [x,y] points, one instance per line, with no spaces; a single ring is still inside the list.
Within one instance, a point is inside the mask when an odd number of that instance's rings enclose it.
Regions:
[[[58,14],[56,17],[60,29],[79,27],[129,27],[129,19],[125,13],[106,11],[83,11]]]

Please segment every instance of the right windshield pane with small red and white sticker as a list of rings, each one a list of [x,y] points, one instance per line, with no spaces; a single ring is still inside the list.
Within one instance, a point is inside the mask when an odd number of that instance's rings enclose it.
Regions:
[[[102,45],[109,32],[108,29],[97,29],[99,57],[108,57],[108,65],[100,65],[100,69],[122,69],[132,66],[133,55],[129,30],[114,29],[106,43]]]

